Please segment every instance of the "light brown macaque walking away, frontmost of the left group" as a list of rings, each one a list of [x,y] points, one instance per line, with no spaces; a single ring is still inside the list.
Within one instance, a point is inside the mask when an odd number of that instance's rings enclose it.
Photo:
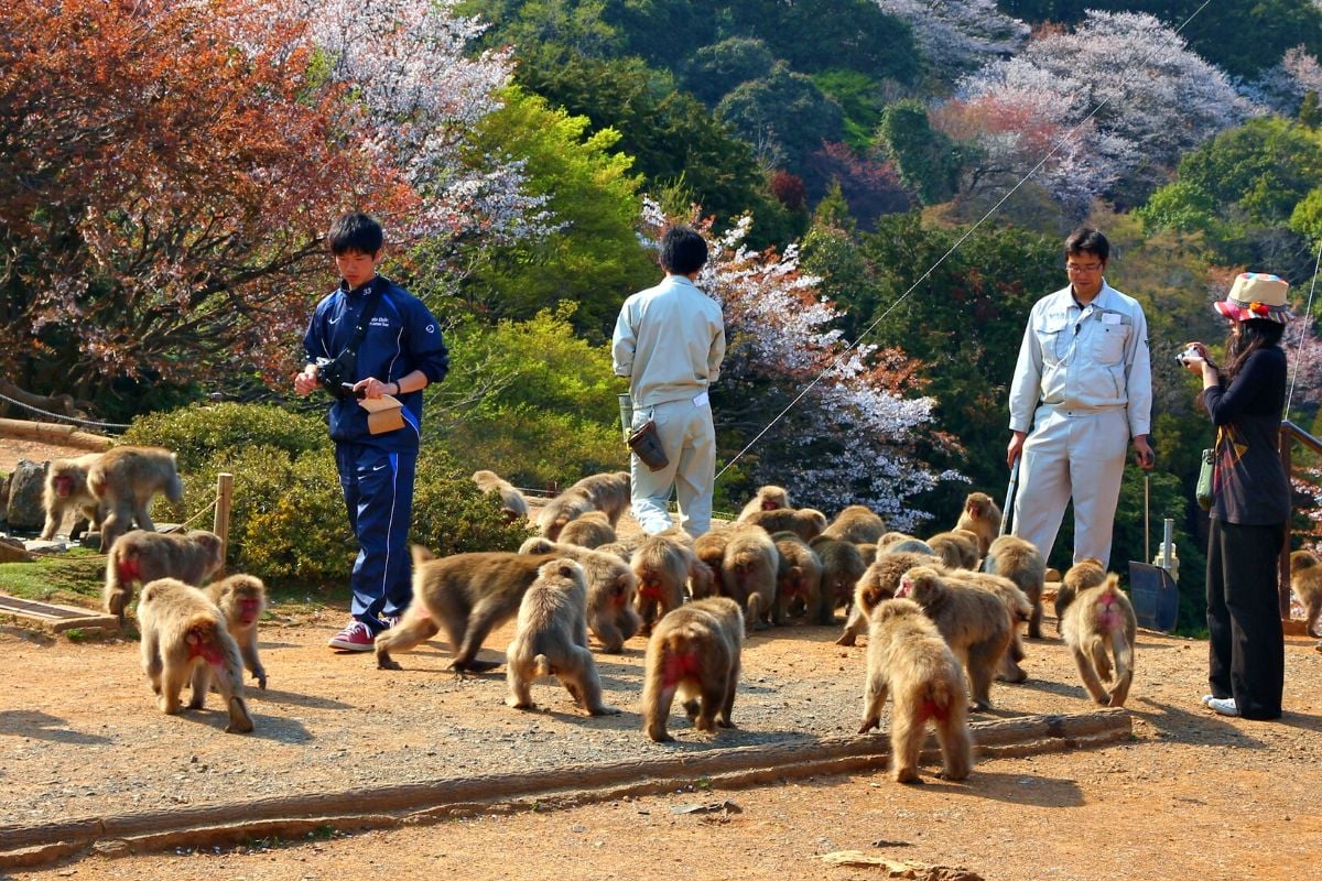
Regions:
[[[243,664],[225,617],[205,593],[176,579],[159,579],[143,588],[137,606],[143,633],[143,672],[159,696],[161,712],[178,713],[180,691],[192,680],[189,709],[201,709],[213,678],[230,713],[226,732],[253,730],[243,700]]]

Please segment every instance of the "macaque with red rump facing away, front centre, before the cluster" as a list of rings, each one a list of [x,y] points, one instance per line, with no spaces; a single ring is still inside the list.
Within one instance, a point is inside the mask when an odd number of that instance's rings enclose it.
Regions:
[[[695,600],[657,623],[642,678],[642,730],[648,737],[674,740],[666,733],[666,719],[676,695],[698,730],[734,728],[730,713],[743,634],[739,605],[728,597]]]

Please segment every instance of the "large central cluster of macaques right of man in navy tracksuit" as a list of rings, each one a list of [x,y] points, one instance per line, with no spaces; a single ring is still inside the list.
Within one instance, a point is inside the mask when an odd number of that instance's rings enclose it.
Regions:
[[[527,515],[518,490],[494,473],[473,481],[498,493],[510,516]],[[698,730],[732,725],[747,635],[796,618],[832,623],[843,608],[838,645],[869,638],[859,730],[876,728],[887,695],[894,700],[895,779],[919,779],[928,721],[943,748],[941,775],[968,777],[969,700],[986,709],[993,679],[1026,679],[1019,625],[1042,635],[1046,580],[1036,548],[998,536],[1001,511],[988,495],[970,494],[956,528],[927,540],[887,531],[861,505],[828,520],[792,507],[776,486],[761,487],[735,523],[695,539],[672,528],[620,540],[615,527],[628,505],[627,472],[594,474],[541,510],[541,535],[517,552],[434,559],[415,548],[412,605],[377,637],[378,667],[398,670],[391,652],[443,631],[457,671],[492,670],[498,663],[479,659],[479,650],[492,629],[516,619],[505,656],[509,705],[533,707],[531,683],[555,675],[584,712],[617,713],[602,700],[588,634],[603,652],[623,651],[641,634],[642,728],[668,741],[677,696]],[[1092,697],[1122,705],[1137,627],[1117,576],[1096,560],[1073,567],[1056,614]]]

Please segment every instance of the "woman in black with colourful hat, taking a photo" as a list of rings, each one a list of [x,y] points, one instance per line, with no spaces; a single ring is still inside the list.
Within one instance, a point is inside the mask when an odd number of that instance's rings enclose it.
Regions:
[[[1186,367],[1203,376],[1202,400],[1216,427],[1211,534],[1207,540],[1208,683],[1203,703],[1223,716],[1280,719],[1285,635],[1277,565],[1290,514],[1289,481],[1278,452],[1285,407],[1290,318],[1285,281],[1244,272],[1215,304],[1231,320],[1225,367],[1202,343]]]

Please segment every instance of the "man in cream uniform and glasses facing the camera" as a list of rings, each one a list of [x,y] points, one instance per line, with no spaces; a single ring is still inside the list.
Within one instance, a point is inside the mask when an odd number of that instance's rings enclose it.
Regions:
[[[1044,557],[1073,497],[1073,561],[1110,560],[1112,527],[1132,437],[1150,469],[1151,367],[1142,306],[1103,277],[1110,244],[1081,227],[1066,239],[1069,285],[1032,306],[1010,386],[1006,461],[1023,456],[1014,534]]]

